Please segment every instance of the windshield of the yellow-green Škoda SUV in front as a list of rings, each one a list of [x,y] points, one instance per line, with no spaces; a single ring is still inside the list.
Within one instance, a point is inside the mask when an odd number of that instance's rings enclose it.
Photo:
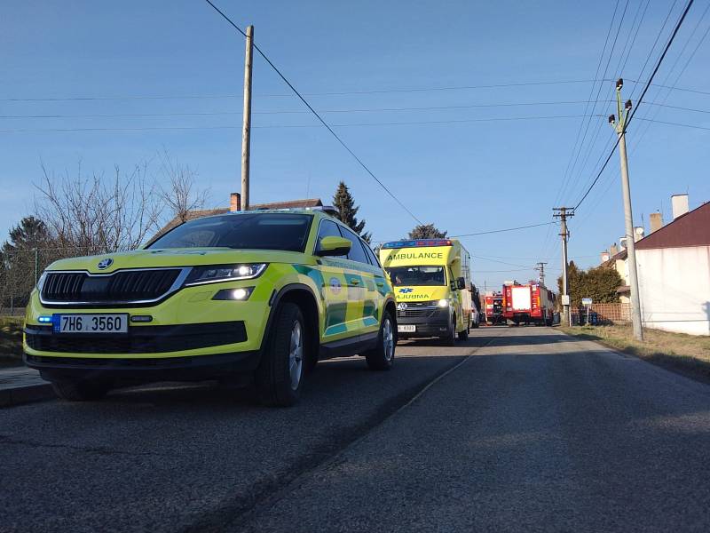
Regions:
[[[185,222],[148,248],[233,248],[304,251],[312,216],[248,213]]]

